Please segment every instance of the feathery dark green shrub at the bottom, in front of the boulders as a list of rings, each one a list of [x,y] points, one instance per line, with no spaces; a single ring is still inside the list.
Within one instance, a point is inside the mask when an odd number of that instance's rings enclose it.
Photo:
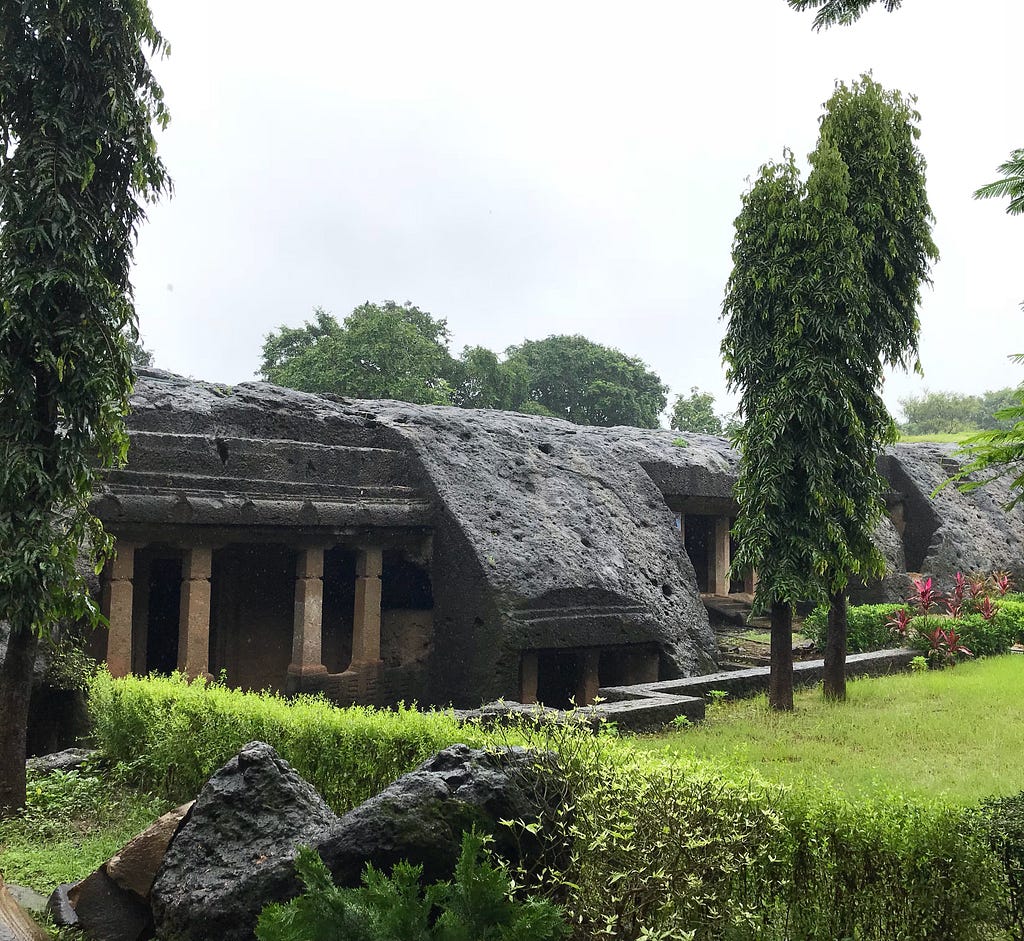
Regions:
[[[263,909],[259,941],[557,941],[567,934],[550,902],[510,897],[508,875],[475,832],[463,835],[454,880],[425,893],[422,866],[408,862],[390,875],[368,863],[357,889],[335,886],[308,847],[299,849],[296,868],[305,893]]]

